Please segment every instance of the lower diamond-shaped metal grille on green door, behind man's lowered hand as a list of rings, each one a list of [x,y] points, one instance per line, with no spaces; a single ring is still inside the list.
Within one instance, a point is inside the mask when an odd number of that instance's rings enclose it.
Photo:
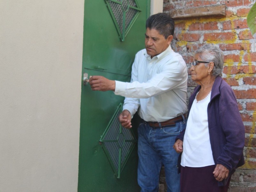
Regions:
[[[119,104],[108,127],[100,138],[100,144],[117,178],[120,178],[124,165],[137,142],[132,129],[125,129],[120,124],[118,116],[121,112],[122,104]]]

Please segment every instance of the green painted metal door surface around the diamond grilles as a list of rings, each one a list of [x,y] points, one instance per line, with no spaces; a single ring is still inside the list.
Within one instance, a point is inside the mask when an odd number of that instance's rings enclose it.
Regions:
[[[137,0],[142,10],[121,42],[105,0],[84,2],[83,73],[112,80],[130,81],[135,53],[144,48],[145,22],[150,0]],[[81,127],[79,149],[79,192],[137,192],[137,147],[117,179],[99,140],[116,107],[124,97],[113,92],[93,92],[81,81]],[[136,124],[136,123],[134,123]],[[137,135],[137,126],[133,126]]]

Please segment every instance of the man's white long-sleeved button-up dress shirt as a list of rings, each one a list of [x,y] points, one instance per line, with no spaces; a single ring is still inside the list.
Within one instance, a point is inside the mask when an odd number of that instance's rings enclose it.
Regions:
[[[153,57],[139,51],[132,65],[131,83],[116,81],[115,94],[125,97],[123,109],[138,110],[145,121],[163,122],[186,113],[187,66],[169,46]]]

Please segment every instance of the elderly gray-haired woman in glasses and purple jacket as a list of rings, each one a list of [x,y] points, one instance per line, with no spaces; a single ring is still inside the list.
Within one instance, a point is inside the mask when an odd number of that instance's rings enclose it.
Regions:
[[[199,85],[189,99],[186,129],[173,146],[182,152],[181,192],[228,191],[231,175],[244,164],[244,125],[222,68],[218,47],[206,44],[196,51],[190,70]]]

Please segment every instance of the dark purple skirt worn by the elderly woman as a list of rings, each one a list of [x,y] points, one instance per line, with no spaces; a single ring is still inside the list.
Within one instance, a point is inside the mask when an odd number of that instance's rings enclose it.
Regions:
[[[215,165],[206,167],[182,167],[180,172],[180,192],[227,192],[226,186],[218,187],[213,175]]]

